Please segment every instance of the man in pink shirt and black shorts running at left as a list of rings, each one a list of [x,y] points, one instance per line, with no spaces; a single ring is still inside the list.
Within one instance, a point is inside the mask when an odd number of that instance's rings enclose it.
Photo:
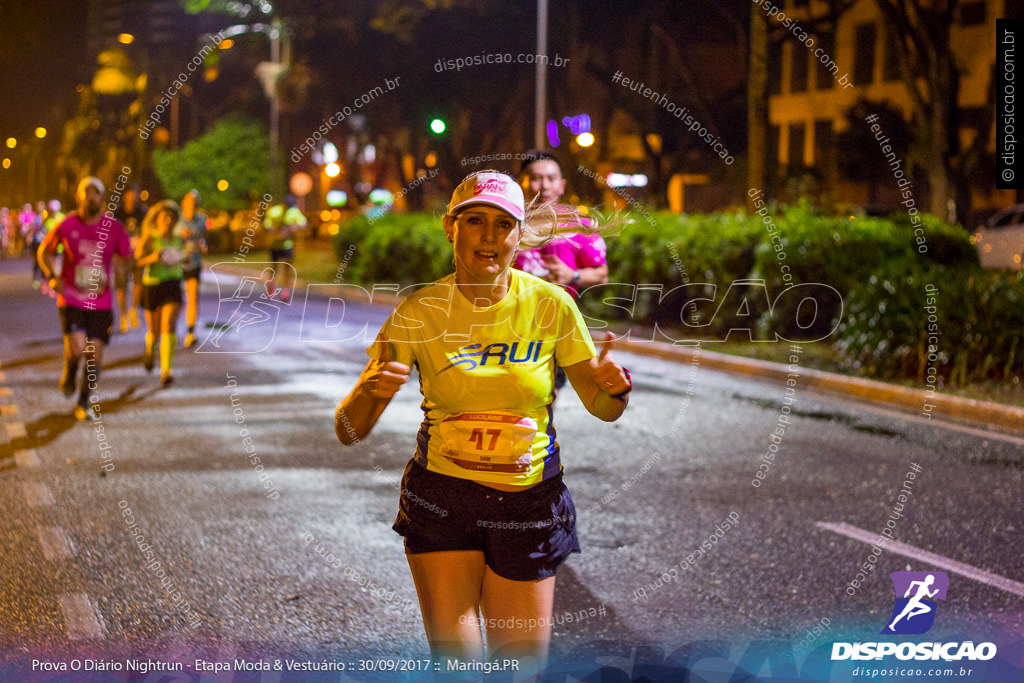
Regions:
[[[60,391],[69,398],[77,388],[78,366],[85,355],[75,417],[91,420],[90,395],[99,380],[103,346],[114,327],[112,272],[124,272],[131,258],[131,242],[124,225],[102,213],[103,183],[89,176],[78,183],[78,211],[69,214],[43,238],[36,255],[43,275],[57,293],[63,331],[63,373]],[[63,247],[60,272],[54,268],[57,248]]]

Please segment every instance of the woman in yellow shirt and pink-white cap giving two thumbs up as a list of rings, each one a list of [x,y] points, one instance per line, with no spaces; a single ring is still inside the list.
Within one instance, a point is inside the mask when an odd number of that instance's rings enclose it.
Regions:
[[[559,225],[596,229],[550,207],[527,212],[504,173],[463,180],[443,217],[455,272],[398,305],[335,416],[341,442],[357,443],[417,369],[425,419],[394,529],[436,659],[483,656],[482,612],[490,657],[543,669],[555,570],[580,552],[551,424],[555,367],[601,420],[629,401],[610,335],[598,353],[564,290],[510,267],[520,244]]]

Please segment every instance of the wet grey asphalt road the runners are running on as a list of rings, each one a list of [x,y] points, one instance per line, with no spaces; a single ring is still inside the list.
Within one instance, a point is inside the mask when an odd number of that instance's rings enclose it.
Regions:
[[[364,443],[343,450],[333,432],[387,309],[249,300],[249,319],[267,319],[216,348],[210,324],[239,303],[218,311],[238,280],[219,283],[204,282],[207,342],[178,349],[172,387],[142,369],[141,331],[115,335],[100,434],[56,389],[52,300],[29,287],[27,261],[0,263],[0,679],[43,656],[427,655],[390,529],[421,417],[415,385]],[[622,420],[597,421],[571,392],[556,410],[584,552],[559,572],[555,613],[578,618],[556,626],[553,658],[604,648],[630,675],[643,652],[695,641],[807,651],[877,638],[893,604],[887,574],[941,567],[883,552],[851,596],[870,545],[817,524],[877,536],[913,464],[894,536],[1010,580],[951,572],[929,637],[1024,632],[1012,590],[1024,582],[1020,439],[812,394],[799,377],[780,422],[784,385],[616,357],[636,386]],[[698,556],[730,514],[738,521]],[[673,567],[675,581],[659,579]]]

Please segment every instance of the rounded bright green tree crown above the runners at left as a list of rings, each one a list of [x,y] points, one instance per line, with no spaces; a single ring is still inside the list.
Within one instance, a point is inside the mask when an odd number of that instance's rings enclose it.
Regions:
[[[257,121],[233,115],[220,119],[180,150],[158,151],[153,157],[167,197],[177,199],[195,188],[207,207],[225,211],[246,208],[266,191],[269,163],[266,129]],[[220,180],[227,181],[226,189],[217,188]]]

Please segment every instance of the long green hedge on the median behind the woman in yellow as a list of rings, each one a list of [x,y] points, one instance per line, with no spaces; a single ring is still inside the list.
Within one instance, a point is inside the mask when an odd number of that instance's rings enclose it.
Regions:
[[[1024,370],[1024,281],[983,271],[959,226],[924,214],[916,224],[905,213],[837,218],[806,204],[650,218],[607,240],[609,285],[585,293],[588,315],[683,328],[685,338],[739,330],[742,339],[744,329],[758,339],[829,338],[848,368],[880,378],[920,381],[933,366],[966,383]],[[426,283],[453,267],[431,214],[354,219],[335,238],[339,258],[350,246],[352,282]],[[938,290],[934,354],[927,285]]]

